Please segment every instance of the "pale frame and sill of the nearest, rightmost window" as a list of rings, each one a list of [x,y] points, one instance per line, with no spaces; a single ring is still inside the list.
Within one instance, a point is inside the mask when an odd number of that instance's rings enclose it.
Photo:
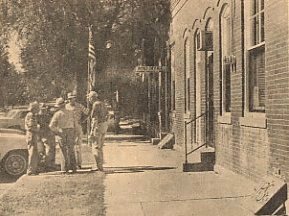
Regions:
[[[261,4],[261,1],[259,1]],[[265,3],[265,0],[264,0]],[[266,119],[266,111],[265,112],[257,112],[250,111],[250,95],[249,95],[249,52],[254,49],[258,49],[260,47],[265,46],[265,40],[258,40],[257,44],[252,44],[252,0],[245,0],[245,106],[244,106],[244,117],[240,118],[240,125],[247,127],[255,127],[255,128],[267,128],[267,119]],[[264,12],[264,11],[263,11]],[[265,12],[264,12],[265,13]],[[265,20],[264,20],[265,21]],[[259,27],[259,30],[261,28]],[[260,38],[260,37],[259,37]],[[266,55],[266,53],[265,53]]]

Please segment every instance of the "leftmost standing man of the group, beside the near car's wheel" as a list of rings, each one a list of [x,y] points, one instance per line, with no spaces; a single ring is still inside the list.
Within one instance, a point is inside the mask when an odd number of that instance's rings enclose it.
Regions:
[[[26,142],[28,145],[28,169],[27,175],[38,175],[38,150],[39,128],[37,114],[39,112],[38,102],[29,104],[29,112],[25,117]]]

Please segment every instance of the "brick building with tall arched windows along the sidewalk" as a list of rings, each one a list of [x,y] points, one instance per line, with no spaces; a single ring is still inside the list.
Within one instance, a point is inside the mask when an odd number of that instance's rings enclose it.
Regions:
[[[216,165],[288,180],[289,1],[171,0],[171,13],[176,146],[207,143]]]

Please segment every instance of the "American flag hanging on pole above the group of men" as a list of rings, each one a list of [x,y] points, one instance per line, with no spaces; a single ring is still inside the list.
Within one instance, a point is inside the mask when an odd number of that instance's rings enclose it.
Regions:
[[[89,27],[88,37],[88,92],[94,90],[95,86],[95,48],[93,45],[93,36],[91,26]]]

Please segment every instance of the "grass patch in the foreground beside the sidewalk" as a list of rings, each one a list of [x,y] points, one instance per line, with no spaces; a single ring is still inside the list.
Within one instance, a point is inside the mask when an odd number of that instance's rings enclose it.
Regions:
[[[105,215],[104,174],[25,176],[0,199],[0,215]]]

